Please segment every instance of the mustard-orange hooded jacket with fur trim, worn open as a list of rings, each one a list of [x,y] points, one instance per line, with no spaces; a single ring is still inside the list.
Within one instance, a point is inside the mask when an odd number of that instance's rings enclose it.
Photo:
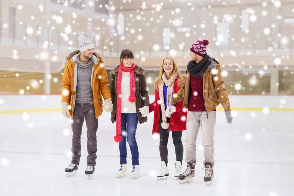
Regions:
[[[67,102],[71,106],[70,115],[73,117],[73,111],[75,106],[76,97],[76,85],[77,85],[77,65],[76,58],[80,51],[76,50],[70,52],[66,57],[66,64],[62,76],[62,98],[61,102]],[[93,55],[93,68],[91,76],[91,87],[93,90],[93,103],[95,109],[95,118],[98,118],[103,111],[102,95],[104,100],[111,98],[109,90],[108,75],[104,66],[104,57],[102,54],[94,53]],[[102,94],[102,95],[101,95]]]

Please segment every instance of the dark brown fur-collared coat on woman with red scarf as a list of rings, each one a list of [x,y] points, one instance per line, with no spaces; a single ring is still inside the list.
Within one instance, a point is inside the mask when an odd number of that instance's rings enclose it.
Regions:
[[[113,110],[111,112],[111,122],[114,123],[116,120],[116,108],[117,108],[117,78],[119,73],[119,66],[111,70],[111,96],[112,96],[112,104],[113,104]],[[142,68],[136,65],[135,67],[135,81],[136,81],[136,110],[137,110],[137,116],[139,123],[142,124],[144,122],[147,122],[147,117],[142,117],[142,114],[139,112],[139,108],[142,108],[143,106],[149,106],[150,107],[150,101],[149,101],[149,95],[147,91],[146,81],[145,81],[145,72]]]

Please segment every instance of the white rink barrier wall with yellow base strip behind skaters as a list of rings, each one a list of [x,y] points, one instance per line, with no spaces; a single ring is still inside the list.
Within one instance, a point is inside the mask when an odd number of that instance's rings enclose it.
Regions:
[[[231,110],[294,111],[294,96],[230,95]],[[150,95],[150,102],[155,99]],[[217,110],[223,111],[222,106]],[[60,112],[61,95],[0,95],[0,114],[23,112]]]

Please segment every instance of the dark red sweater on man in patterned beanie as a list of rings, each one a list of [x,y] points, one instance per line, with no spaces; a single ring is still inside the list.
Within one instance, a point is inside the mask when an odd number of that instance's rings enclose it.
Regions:
[[[190,76],[191,96],[189,99],[188,111],[205,112],[205,103],[203,97],[203,77]]]

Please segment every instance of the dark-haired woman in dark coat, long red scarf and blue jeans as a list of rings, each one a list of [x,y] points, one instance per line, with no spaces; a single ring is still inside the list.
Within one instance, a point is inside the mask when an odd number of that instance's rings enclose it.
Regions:
[[[149,95],[146,90],[144,70],[134,63],[134,55],[130,50],[123,50],[120,65],[111,71],[111,96],[113,110],[111,122],[116,122],[116,136],[119,142],[120,169],[117,177],[123,177],[127,167],[126,141],[132,153],[131,178],[139,177],[139,150],[136,142],[136,130],[147,121],[149,113]]]

